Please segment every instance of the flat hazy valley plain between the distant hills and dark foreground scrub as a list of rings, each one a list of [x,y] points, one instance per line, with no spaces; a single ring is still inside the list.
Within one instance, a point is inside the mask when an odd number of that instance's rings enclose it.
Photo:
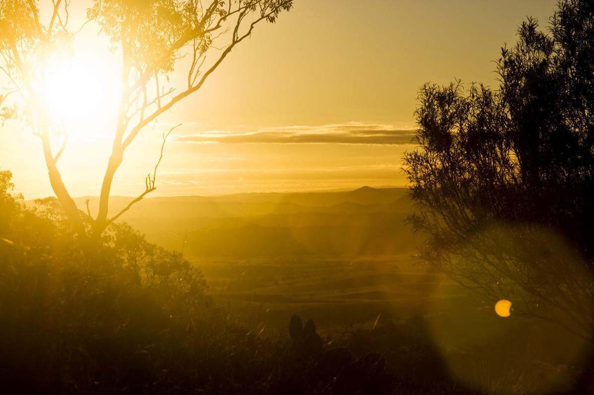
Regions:
[[[467,295],[410,257],[196,264],[216,301],[273,333],[286,331],[293,313],[338,330],[372,326],[378,315],[384,321],[425,314],[435,298]]]

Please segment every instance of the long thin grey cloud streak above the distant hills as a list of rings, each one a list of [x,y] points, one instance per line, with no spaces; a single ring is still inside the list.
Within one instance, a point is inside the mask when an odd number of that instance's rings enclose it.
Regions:
[[[323,126],[263,128],[253,132],[206,131],[176,137],[188,143],[410,144],[415,129],[349,122]]]

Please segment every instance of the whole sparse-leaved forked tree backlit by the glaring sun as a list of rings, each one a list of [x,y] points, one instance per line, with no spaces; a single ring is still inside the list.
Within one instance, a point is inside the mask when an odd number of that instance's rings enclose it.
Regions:
[[[0,53],[9,87],[0,97],[4,107],[0,119],[14,115],[5,99],[20,96],[29,121],[43,143],[53,191],[64,211],[86,238],[99,237],[110,223],[121,216],[109,216],[109,195],[113,178],[124,160],[124,151],[140,131],[179,101],[200,90],[207,78],[227,55],[261,22],[274,23],[280,12],[289,11],[293,0],[93,0],[87,21],[97,23],[110,38],[112,49],[121,55],[122,92],[116,120],[112,152],[102,182],[99,211],[90,227],[72,200],[61,178],[58,160],[67,138],[57,150],[50,136],[59,131],[51,121],[39,87],[45,86],[45,70],[51,56],[60,56],[71,46],[76,31],[68,26],[69,0],[49,4],[48,20],[43,21],[36,0],[0,1]],[[187,56],[184,83],[175,86],[170,75],[176,62]],[[164,135],[165,139],[165,135]],[[163,142],[165,143],[165,142]],[[158,164],[157,164],[158,165]],[[131,202],[141,200],[156,188],[156,171],[146,178],[146,189]]]

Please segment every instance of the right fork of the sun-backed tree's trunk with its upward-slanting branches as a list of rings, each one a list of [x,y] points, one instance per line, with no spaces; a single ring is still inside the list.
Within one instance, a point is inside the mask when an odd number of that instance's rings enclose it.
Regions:
[[[137,80],[132,83],[129,89],[122,89],[122,100],[118,115],[118,130],[116,131],[115,139],[113,141],[112,155],[110,156],[108,169],[106,170],[105,177],[103,179],[99,198],[99,213],[97,214],[95,226],[96,233],[102,232],[103,229],[105,229],[105,226],[108,225],[107,219],[109,211],[109,194],[113,177],[115,176],[115,172],[119,168],[119,165],[121,165],[124,151],[128,148],[132,141],[134,141],[141,129],[150,124],[150,122],[153,122],[155,119],[157,119],[158,116],[170,110],[176,103],[185,97],[188,97],[190,94],[200,90],[208,76],[211,75],[217,67],[219,67],[226,56],[238,43],[242,42],[242,40],[251,34],[257,23],[260,23],[264,20],[273,22],[280,11],[289,10],[291,8],[292,0],[252,0],[248,2],[229,2],[226,11],[222,8],[219,8],[222,4],[223,2],[220,1],[212,2],[204,14],[201,15],[201,18],[195,24],[194,29],[181,34],[178,39],[168,46],[165,52],[157,57],[156,61],[153,61],[142,68]],[[235,8],[232,8],[232,5]],[[242,21],[244,21],[244,18],[248,14],[255,12],[258,6],[260,7],[260,16],[255,18],[255,20],[249,24],[249,28],[245,34],[239,36],[238,31],[242,26]],[[219,17],[215,18],[215,15],[219,15]],[[208,70],[203,74],[203,77],[200,79],[200,81],[198,81],[198,83],[194,85],[190,84],[187,89],[173,96],[168,102],[163,103],[163,99],[165,99],[170,94],[173,94],[172,89],[169,89],[168,91],[159,91],[159,74],[163,67],[166,67],[164,66],[164,63],[172,61],[171,59],[175,61],[175,59],[178,58],[176,52],[191,43],[192,56],[195,61],[192,62],[192,65],[189,68],[188,80],[195,80],[200,73],[200,69],[197,68],[198,59],[200,59],[200,64],[203,64],[208,50],[212,48],[212,41],[209,34],[218,29],[222,29],[223,23],[228,21],[229,18],[234,15],[236,15],[237,18],[233,24],[233,34],[230,37],[230,43],[226,46],[226,49],[223,50],[221,55],[216,59],[211,67],[208,68]],[[121,37],[123,49],[122,62],[125,67],[130,67],[130,62],[132,61],[130,58],[132,48],[129,47],[129,43],[127,42],[125,34],[122,34]],[[205,44],[202,46],[195,46],[195,40],[203,40]],[[125,77],[124,86],[127,86],[127,78],[128,77]],[[154,78],[157,89],[154,93],[154,99],[147,100],[147,86],[151,78]],[[138,105],[138,100],[143,100],[143,102]],[[136,108],[131,114],[128,115],[131,106],[136,106]],[[134,123],[134,126],[130,126],[134,117],[137,117],[137,121]],[[128,127],[130,127],[130,129],[128,133],[126,133]]]

